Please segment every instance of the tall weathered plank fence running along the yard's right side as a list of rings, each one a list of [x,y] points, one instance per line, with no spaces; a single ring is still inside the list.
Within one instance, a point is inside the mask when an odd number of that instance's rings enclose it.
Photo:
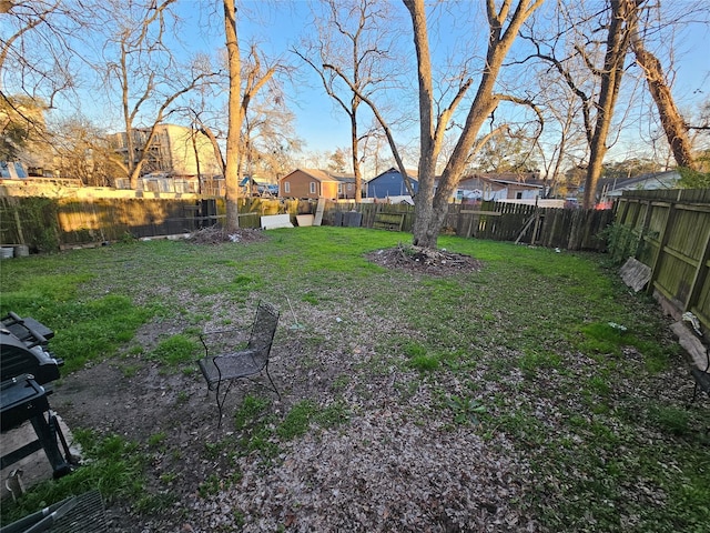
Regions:
[[[639,239],[648,291],[710,329],[710,189],[625,192],[616,221]]]

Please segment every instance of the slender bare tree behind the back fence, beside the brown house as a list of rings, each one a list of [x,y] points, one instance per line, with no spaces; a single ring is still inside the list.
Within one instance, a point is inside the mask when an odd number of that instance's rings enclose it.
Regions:
[[[372,99],[385,80],[396,76],[392,62],[386,73],[382,67],[393,57],[392,12],[387,2],[377,0],[324,0],[323,3],[327,16],[317,21],[317,40],[292,51],[317,72],[326,93],[349,119],[355,201],[359,201],[363,147],[372,130],[362,128],[358,111],[363,95]]]

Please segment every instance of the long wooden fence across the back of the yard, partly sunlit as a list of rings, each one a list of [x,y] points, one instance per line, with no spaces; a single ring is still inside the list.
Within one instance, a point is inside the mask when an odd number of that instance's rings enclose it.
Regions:
[[[258,228],[260,217],[287,212],[314,214],[316,203],[268,199],[241,199],[240,225]],[[357,212],[355,219],[347,213]],[[483,202],[452,204],[445,233],[516,241],[568,250],[604,250],[599,233],[613,213],[534,205]],[[220,223],[223,199],[48,199],[0,197],[0,242],[27,244],[32,251],[51,251],[87,243],[118,241],[126,235],[146,238],[189,233]],[[392,219],[387,221],[387,217]],[[323,223],[328,225],[394,228],[410,232],[414,207],[386,203],[326,202]],[[396,223],[394,223],[394,222]]]

